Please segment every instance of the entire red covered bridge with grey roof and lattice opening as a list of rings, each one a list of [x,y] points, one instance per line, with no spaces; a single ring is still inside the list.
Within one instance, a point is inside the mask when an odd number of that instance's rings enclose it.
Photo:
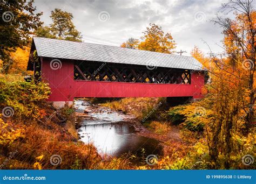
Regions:
[[[203,97],[202,65],[188,56],[38,37],[30,54],[28,70],[50,84],[50,102],[71,103],[75,97]]]

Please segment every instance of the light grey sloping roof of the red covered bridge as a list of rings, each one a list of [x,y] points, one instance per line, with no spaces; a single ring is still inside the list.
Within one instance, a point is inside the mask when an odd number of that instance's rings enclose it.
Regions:
[[[33,41],[42,57],[203,70],[201,63],[190,56],[39,37]]]

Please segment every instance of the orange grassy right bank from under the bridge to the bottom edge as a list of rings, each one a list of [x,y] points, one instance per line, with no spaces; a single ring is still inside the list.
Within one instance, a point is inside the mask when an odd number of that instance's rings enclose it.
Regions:
[[[159,102],[162,102],[156,110],[153,110]],[[180,129],[172,125],[168,121],[168,107],[166,107],[165,99],[163,98],[122,98],[121,100],[114,100],[104,102],[102,104],[111,109],[120,110],[126,114],[134,115],[145,128],[150,132],[144,133],[143,136],[155,138],[161,141],[164,148],[164,155],[159,157],[159,162],[154,166],[142,165],[137,169],[177,169],[183,168],[183,158],[190,151],[193,150],[199,139],[202,137],[200,133],[193,132],[187,129]],[[152,112],[152,113],[151,113]],[[150,114],[150,116],[147,116]],[[148,117],[146,121],[143,118]],[[172,129],[176,129],[172,130]],[[179,139],[172,135],[172,133],[179,133]]]

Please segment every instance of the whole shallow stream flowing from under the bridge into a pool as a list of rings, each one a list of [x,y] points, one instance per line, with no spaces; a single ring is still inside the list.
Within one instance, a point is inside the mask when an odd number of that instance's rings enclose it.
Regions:
[[[142,157],[142,154],[161,154],[158,140],[138,135],[131,123],[134,117],[83,100],[76,100],[74,107],[81,125],[78,129],[80,140],[92,143],[100,155],[120,157],[131,153]]]

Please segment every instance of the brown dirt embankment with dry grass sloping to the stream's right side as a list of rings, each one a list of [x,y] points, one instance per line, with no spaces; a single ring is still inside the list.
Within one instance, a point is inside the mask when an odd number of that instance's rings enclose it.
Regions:
[[[174,153],[185,155],[192,144],[187,141],[179,126],[172,125],[171,122],[161,118],[147,119],[146,122],[142,122],[143,117],[160,102],[159,98],[122,98],[97,105],[131,115],[133,118],[129,121],[134,125],[138,134],[159,140],[164,147],[164,155],[173,155]],[[153,113],[156,114],[155,116],[160,114],[159,111]]]

